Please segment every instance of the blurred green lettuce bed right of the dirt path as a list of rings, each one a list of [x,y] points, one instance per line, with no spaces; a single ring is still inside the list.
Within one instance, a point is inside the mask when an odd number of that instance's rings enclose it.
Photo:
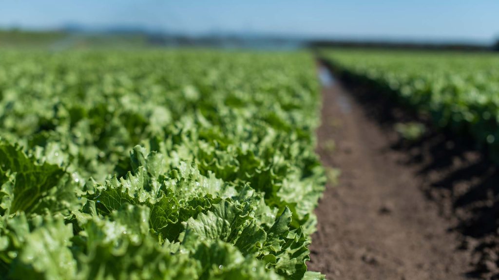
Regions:
[[[322,50],[340,74],[377,85],[437,126],[471,136],[499,162],[499,56],[493,53]]]

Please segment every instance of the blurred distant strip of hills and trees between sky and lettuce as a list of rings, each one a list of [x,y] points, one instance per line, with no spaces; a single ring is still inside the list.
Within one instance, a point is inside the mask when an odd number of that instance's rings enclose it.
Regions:
[[[498,42],[484,45],[470,42],[422,42],[394,40],[335,40],[260,33],[210,32],[184,34],[135,25],[91,27],[68,23],[54,31],[0,29],[0,47],[49,48],[141,48],[141,47],[209,47],[292,50],[303,47],[429,49],[461,51],[499,51]]]

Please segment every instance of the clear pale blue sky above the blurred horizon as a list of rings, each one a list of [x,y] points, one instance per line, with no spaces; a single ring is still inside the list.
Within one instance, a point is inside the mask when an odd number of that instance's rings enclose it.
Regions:
[[[199,34],[327,38],[499,38],[499,0],[0,0],[0,26],[138,25]]]

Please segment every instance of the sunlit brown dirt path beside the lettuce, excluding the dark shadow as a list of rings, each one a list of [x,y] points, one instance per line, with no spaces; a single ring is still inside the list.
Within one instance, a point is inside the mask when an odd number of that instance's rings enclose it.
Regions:
[[[316,209],[309,270],[329,280],[466,279],[470,254],[457,249],[453,221],[422,191],[421,166],[405,164],[410,155],[393,148],[393,130],[333,82],[323,87],[317,134],[323,164],[341,176]]]

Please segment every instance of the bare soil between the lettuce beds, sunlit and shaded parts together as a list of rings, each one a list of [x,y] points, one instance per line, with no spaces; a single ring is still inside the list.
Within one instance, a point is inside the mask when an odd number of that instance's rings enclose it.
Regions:
[[[316,209],[309,270],[342,280],[495,279],[499,175],[483,153],[431,128],[418,142],[401,139],[393,125],[416,117],[365,86],[334,81],[322,94],[317,152],[341,175]]]

